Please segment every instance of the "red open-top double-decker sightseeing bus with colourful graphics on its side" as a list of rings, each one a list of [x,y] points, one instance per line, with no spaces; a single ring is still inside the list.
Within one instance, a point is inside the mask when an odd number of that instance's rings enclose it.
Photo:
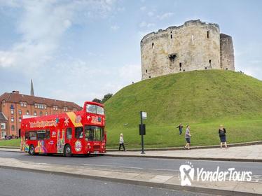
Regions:
[[[85,102],[82,111],[59,115],[24,116],[21,122],[21,151],[89,155],[106,152],[104,106]]]

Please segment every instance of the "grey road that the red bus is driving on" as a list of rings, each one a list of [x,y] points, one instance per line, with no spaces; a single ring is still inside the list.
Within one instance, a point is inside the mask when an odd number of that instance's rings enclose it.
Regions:
[[[148,172],[158,174],[174,174],[179,172],[180,165],[187,160],[156,159],[156,158],[126,158],[109,156],[74,156],[65,158],[60,155],[35,155],[26,153],[13,153],[0,151],[0,158],[15,158],[25,162],[71,165],[76,167],[102,168],[110,170],[123,170],[134,172]],[[254,179],[262,183],[262,163],[258,162],[226,162],[226,161],[202,161],[189,160],[193,167],[204,168],[207,171],[216,171],[219,166],[220,171],[226,171],[234,167],[237,171],[251,171]]]

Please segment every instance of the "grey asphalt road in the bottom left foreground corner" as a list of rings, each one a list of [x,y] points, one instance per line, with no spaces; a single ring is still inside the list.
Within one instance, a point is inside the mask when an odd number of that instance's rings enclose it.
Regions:
[[[90,179],[79,179],[69,176],[53,174],[40,174],[34,172],[21,172],[13,169],[0,169],[0,195],[3,196],[48,196],[48,195],[185,195],[205,196],[207,194],[191,193],[186,191],[169,190],[164,188],[151,188],[135,186],[125,183],[111,183]]]

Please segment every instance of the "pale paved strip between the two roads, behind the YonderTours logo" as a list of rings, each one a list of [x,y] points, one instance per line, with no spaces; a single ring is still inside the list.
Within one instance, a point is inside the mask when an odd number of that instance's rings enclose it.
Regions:
[[[110,169],[94,169],[74,167],[69,165],[42,164],[28,161],[20,161],[13,158],[0,158],[0,168],[19,169],[28,172],[41,172],[47,174],[59,174],[87,179],[113,181],[118,183],[130,183],[139,186],[151,186],[158,188],[170,188],[174,190],[187,190],[195,193],[210,193],[217,195],[261,195],[262,184],[251,182],[198,182],[193,181],[192,186],[181,186],[177,174],[152,174],[146,172],[123,172]]]

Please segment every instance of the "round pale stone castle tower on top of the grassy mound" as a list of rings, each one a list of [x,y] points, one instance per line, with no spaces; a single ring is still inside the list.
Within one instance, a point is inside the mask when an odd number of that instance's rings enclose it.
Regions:
[[[235,71],[232,38],[214,23],[190,20],[147,34],[140,45],[142,80],[182,71]]]

